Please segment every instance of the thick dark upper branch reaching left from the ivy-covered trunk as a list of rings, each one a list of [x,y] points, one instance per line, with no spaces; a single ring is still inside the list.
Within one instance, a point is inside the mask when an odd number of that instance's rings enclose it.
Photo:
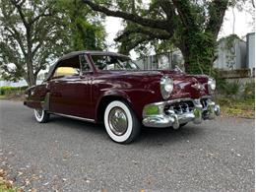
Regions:
[[[167,22],[163,20],[153,20],[153,19],[148,19],[144,18],[141,16],[138,16],[136,14],[130,14],[122,11],[112,11],[109,10],[106,7],[97,5],[96,3],[93,3],[92,0],[83,0],[84,3],[89,5],[93,10],[97,12],[104,13],[107,16],[112,16],[112,17],[118,17],[118,18],[123,18],[125,20],[134,22],[136,24],[145,26],[145,27],[150,27],[154,29],[160,29],[160,30],[167,30]]]

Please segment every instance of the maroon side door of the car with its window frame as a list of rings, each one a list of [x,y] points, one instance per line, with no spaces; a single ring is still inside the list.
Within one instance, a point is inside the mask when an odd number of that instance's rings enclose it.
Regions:
[[[82,73],[81,55],[60,62],[60,67],[71,67],[78,73],[56,75],[50,80],[50,111],[65,115],[88,117],[87,104],[91,101],[90,71]],[[84,57],[84,56],[83,56]]]

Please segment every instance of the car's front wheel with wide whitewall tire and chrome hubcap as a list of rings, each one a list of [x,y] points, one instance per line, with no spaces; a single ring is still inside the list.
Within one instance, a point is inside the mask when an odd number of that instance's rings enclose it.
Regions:
[[[105,108],[104,125],[108,136],[117,143],[130,143],[140,134],[141,124],[130,106],[119,100]]]

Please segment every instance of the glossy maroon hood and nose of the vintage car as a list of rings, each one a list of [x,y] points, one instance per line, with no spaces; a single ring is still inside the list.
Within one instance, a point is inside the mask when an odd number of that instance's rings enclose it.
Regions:
[[[174,88],[169,99],[180,97],[197,98],[208,95],[208,76],[204,75],[188,75],[180,71],[165,71],[165,70],[145,70],[145,71],[105,71],[100,72],[109,75],[118,81],[118,79],[126,79],[127,81],[136,81],[138,87],[144,87],[146,90],[155,90],[160,93],[160,78],[167,76],[173,80]],[[200,85],[201,89],[195,88]],[[159,91],[157,91],[159,90]]]

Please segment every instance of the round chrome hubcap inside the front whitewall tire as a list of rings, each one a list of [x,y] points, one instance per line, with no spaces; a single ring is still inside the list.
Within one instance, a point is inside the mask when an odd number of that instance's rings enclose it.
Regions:
[[[108,115],[108,124],[115,135],[121,136],[125,134],[128,128],[128,119],[125,111],[120,107],[112,108]]]

